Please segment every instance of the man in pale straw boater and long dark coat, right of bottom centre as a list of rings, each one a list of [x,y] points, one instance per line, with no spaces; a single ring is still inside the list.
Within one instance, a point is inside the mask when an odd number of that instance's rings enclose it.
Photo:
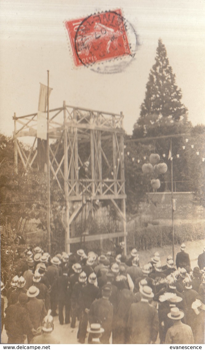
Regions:
[[[144,286],[141,294],[141,301],[130,307],[127,323],[129,344],[155,343],[159,331],[157,309],[149,303],[154,296],[152,288]]]

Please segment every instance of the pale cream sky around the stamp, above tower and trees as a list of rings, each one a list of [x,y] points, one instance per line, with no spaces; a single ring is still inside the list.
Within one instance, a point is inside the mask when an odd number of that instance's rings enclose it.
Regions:
[[[139,45],[124,71],[100,74],[75,67],[63,22],[122,9]],[[124,114],[132,133],[139,118],[158,39],[182,90],[193,125],[205,124],[205,1],[190,0],[0,0],[0,132],[12,119],[37,112],[39,83],[50,71],[50,108],[63,105]]]

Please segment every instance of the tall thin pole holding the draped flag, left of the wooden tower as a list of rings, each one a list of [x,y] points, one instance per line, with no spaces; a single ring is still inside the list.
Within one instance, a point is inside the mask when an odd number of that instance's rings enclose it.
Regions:
[[[50,198],[50,158],[49,158],[49,70],[47,86],[47,139],[46,139],[46,164],[47,164],[47,244],[48,253],[51,254],[51,198]]]

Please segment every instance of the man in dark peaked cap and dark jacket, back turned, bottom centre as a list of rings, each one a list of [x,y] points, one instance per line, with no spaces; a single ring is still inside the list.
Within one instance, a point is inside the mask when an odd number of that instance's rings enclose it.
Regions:
[[[100,323],[101,327],[104,328],[104,333],[100,339],[102,344],[109,344],[109,338],[112,332],[113,306],[109,302],[111,292],[110,286],[104,286],[102,288],[102,298],[93,301],[88,314],[90,324]],[[88,343],[91,343],[91,341],[90,336]]]

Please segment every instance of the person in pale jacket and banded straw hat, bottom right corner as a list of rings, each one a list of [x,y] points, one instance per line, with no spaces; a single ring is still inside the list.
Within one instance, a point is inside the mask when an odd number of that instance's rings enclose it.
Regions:
[[[174,324],[167,331],[165,344],[194,344],[191,327],[181,322],[184,317],[183,311],[173,307],[167,316]]]

